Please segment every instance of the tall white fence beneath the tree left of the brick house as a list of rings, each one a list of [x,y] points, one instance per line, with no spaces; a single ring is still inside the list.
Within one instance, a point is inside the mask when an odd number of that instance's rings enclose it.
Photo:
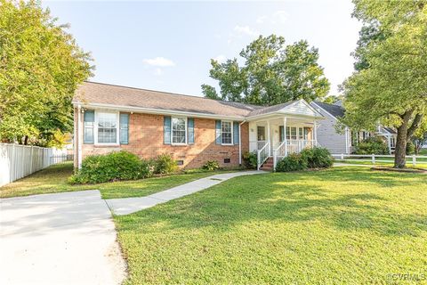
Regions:
[[[67,150],[0,143],[0,187],[67,159]]]

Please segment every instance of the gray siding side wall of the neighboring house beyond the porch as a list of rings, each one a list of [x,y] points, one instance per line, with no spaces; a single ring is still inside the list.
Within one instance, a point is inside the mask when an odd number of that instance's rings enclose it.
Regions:
[[[342,134],[336,132],[335,125],[337,120],[323,109],[318,108],[318,106],[311,104],[311,107],[325,116],[325,119],[318,121],[318,144],[331,151],[331,153],[346,153],[345,132]]]

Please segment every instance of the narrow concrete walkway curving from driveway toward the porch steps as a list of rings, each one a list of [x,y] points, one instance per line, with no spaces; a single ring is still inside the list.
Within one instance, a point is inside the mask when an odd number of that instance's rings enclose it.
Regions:
[[[223,181],[229,180],[230,178],[241,176],[241,175],[256,175],[267,173],[264,171],[245,171],[235,173],[225,173],[221,175],[212,175],[205,178],[198,179],[196,181],[185,183],[177,187],[173,187],[169,190],[160,191],[151,194],[146,197],[138,198],[125,198],[125,199],[106,199],[105,201],[109,205],[111,211],[117,215],[127,215],[137,211],[141,211],[144,208],[150,208],[160,203],[165,203],[171,199],[177,199],[182,196],[192,194],[197,191],[202,191],[206,188],[214,186]]]

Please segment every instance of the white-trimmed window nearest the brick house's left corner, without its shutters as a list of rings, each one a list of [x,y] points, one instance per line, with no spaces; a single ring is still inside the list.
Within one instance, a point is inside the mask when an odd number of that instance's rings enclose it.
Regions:
[[[97,132],[98,143],[118,143],[117,142],[117,113],[97,112]]]

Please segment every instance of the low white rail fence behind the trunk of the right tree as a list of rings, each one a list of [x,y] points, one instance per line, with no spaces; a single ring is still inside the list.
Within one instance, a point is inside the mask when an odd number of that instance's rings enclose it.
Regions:
[[[332,155],[335,160],[345,160],[345,161],[370,161],[372,164],[377,162],[387,162],[392,163],[394,155],[379,155],[379,154],[343,154],[336,153]],[[388,158],[388,159],[387,159]],[[412,163],[413,166],[416,164],[427,164],[427,156],[425,155],[407,155],[408,160]]]

